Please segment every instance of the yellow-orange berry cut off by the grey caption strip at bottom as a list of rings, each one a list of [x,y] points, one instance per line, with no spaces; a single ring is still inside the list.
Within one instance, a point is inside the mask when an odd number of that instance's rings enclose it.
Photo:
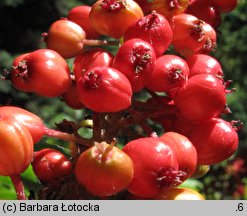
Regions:
[[[204,197],[195,190],[189,188],[171,188],[160,193],[157,200],[205,200]]]

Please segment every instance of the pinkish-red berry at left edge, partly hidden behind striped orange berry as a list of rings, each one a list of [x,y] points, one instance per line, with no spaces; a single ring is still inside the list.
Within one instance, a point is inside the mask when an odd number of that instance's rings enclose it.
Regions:
[[[14,118],[20,124],[24,125],[31,134],[33,143],[37,143],[42,138],[44,124],[37,115],[19,107],[1,106],[0,118],[3,116]]]

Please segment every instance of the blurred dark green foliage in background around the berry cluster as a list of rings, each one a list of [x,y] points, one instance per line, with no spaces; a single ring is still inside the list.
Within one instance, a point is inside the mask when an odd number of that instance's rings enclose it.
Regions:
[[[92,5],[94,0],[1,0],[0,2],[0,74],[11,67],[12,61],[20,53],[30,52],[44,47],[41,34],[60,17],[66,17],[68,11],[76,5]],[[227,119],[240,119],[247,122],[247,2],[241,1],[232,13],[223,15],[218,29],[218,49],[215,57],[221,62],[225,78],[233,79],[237,92],[228,96],[228,105],[232,114]],[[114,52],[114,50],[112,50]],[[72,60],[69,61],[71,65]],[[42,98],[35,94],[17,91],[9,81],[0,80],[0,105],[23,107],[40,116],[46,125],[55,127],[63,119],[80,121],[85,113],[65,106],[59,99]],[[90,133],[82,131],[87,135]],[[59,144],[59,145],[58,145]],[[60,147],[61,146],[61,147]],[[42,139],[36,149],[56,148],[69,155],[66,143],[54,139]],[[247,127],[240,132],[240,148],[235,157],[244,158],[247,152]],[[183,186],[201,191],[208,199],[235,199],[247,197],[247,178],[229,173],[234,158],[216,166],[203,178],[190,179]],[[31,167],[22,175],[29,191],[37,191],[41,185]],[[239,185],[244,186],[245,194],[233,196]],[[231,186],[231,190],[229,190]],[[228,192],[227,192],[228,191]],[[10,179],[0,177],[0,199],[15,199]]]

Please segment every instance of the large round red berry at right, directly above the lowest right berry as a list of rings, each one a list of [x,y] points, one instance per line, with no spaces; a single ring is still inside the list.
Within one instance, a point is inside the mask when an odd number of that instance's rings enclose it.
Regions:
[[[191,77],[174,98],[181,116],[191,121],[207,120],[220,115],[226,105],[225,86],[215,76]]]

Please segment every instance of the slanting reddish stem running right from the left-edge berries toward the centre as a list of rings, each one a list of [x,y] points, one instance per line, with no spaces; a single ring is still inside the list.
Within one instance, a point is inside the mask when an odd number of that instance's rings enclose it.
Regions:
[[[89,146],[89,147],[92,146],[91,139],[82,138],[79,136],[75,136],[73,134],[68,134],[68,133],[50,129],[47,127],[44,128],[44,135],[48,137],[53,137],[53,138],[69,141],[69,142],[75,142],[75,143],[82,144],[82,145]]]

